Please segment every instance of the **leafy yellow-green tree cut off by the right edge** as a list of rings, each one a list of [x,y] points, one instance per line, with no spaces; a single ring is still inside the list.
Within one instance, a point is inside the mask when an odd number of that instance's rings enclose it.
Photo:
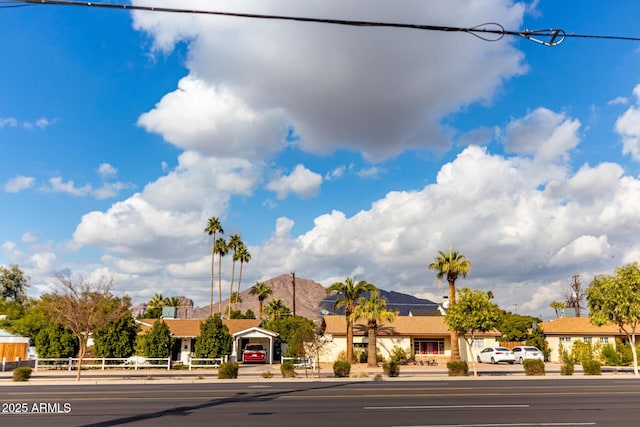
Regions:
[[[633,374],[638,375],[636,333],[640,323],[640,267],[637,262],[618,267],[614,275],[598,275],[586,291],[594,325],[615,324],[631,344]]]

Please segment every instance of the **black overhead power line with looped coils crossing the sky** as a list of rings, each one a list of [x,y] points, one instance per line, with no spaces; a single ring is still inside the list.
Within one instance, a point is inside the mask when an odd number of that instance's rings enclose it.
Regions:
[[[627,41],[640,41],[640,37],[624,37],[624,36],[610,36],[610,35],[593,35],[593,34],[575,34],[566,33],[559,28],[551,28],[544,30],[518,30],[511,31],[506,30],[501,24],[496,22],[488,22],[474,27],[454,27],[454,26],[439,26],[439,25],[420,25],[420,24],[408,24],[399,22],[379,22],[379,21],[358,21],[348,19],[327,19],[327,18],[310,18],[302,16],[285,16],[285,15],[267,15],[257,13],[242,13],[242,12],[223,12],[213,10],[201,10],[201,9],[183,9],[183,8],[169,8],[169,7],[155,7],[155,6],[136,6],[128,4],[113,4],[113,3],[96,3],[88,1],[66,1],[66,0],[1,0],[7,6],[0,7],[16,7],[17,5],[57,5],[57,6],[81,6],[103,9],[119,9],[119,10],[137,10],[145,12],[166,12],[166,13],[182,13],[182,14],[199,14],[199,15],[216,15],[227,16],[236,18],[248,18],[248,19],[265,19],[265,20],[280,20],[280,21],[296,21],[296,22],[312,22],[319,24],[331,24],[331,25],[344,25],[352,27],[384,27],[384,28],[401,28],[401,29],[413,29],[423,31],[441,31],[441,32],[459,32],[467,33],[476,36],[485,41],[498,41],[504,38],[504,36],[518,36],[525,38],[529,41],[541,44],[543,46],[557,46],[562,43],[566,38],[589,38],[589,39],[608,39],[608,40],[627,40]]]

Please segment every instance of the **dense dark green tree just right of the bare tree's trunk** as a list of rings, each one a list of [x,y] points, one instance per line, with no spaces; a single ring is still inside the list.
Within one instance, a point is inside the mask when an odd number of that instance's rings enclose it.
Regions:
[[[92,336],[97,357],[130,357],[135,352],[138,326],[131,315],[125,313]]]

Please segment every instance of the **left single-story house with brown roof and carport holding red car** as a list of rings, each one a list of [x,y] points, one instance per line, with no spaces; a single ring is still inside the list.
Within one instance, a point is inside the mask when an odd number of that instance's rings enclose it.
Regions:
[[[142,333],[147,332],[159,319],[136,319]],[[188,363],[195,350],[196,338],[200,336],[200,325],[206,319],[162,319],[167,324],[171,335],[179,341],[179,353],[173,358]],[[223,319],[222,324],[229,329],[233,337],[231,360],[242,360],[242,349],[249,342],[260,343],[267,349],[267,359],[273,362],[274,339],[277,333],[260,328],[260,319]]]

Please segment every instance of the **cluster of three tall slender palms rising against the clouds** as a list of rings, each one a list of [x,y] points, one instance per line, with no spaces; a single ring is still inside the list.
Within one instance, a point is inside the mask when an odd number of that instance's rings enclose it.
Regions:
[[[222,258],[231,253],[231,280],[229,281],[229,303],[227,304],[227,316],[231,316],[232,304],[233,310],[236,310],[238,303],[242,302],[240,299],[242,267],[244,264],[251,261],[251,254],[242,241],[240,235],[232,234],[229,236],[229,240],[225,240],[223,237],[217,237],[218,235],[223,235],[224,230],[220,219],[215,216],[209,218],[204,232],[211,236],[211,288],[209,295],[209,315],[213,316],[213,285],[216,265],[215,257],[216,255],[218,256],[218,312],[222,313]],[[234,291],[233,287],[235,285],[236,263],[238,262],[240,263],[240,271],[238,274],[238,284]]]

